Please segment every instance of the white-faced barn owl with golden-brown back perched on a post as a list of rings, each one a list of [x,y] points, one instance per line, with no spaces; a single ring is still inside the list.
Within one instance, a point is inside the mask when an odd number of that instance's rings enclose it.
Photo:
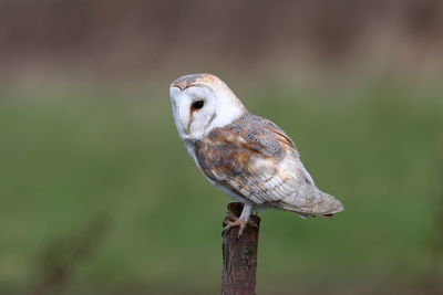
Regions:
[[[246,228],[253,211],[277,208],[298,215],[343,211],[320,191],[300,161],[293,141],[272,122],[250,114],[212,74],[185,75],[171,84],[178,135],[207,179],[244,203],[224,231]]]

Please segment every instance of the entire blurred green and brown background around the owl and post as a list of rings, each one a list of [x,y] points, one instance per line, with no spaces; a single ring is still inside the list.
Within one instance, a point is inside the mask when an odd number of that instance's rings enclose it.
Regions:
[[[441,1],[0,3],[0,294],[217,294],[230,199],[175,130],[210,72],[332,220],[260,213],[258,294],[442,294]]]

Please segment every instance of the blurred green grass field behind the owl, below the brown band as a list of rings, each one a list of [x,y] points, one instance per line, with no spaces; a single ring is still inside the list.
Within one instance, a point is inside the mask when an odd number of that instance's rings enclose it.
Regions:
[[[0,91],[1,294],[218,293],[230,199],[187,156],[167,87]],[[261,213],[258,294],[416,294],[442,277],[441,85],[233,88],[347,209]]]

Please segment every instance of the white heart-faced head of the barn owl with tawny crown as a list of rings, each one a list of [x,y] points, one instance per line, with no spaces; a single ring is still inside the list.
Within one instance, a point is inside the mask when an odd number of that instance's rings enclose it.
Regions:
[[[184,140],[198,140],[213,128],[223,127],[247,110],[217,76],[185,75],[171,84],[171,101],[178,134]]]

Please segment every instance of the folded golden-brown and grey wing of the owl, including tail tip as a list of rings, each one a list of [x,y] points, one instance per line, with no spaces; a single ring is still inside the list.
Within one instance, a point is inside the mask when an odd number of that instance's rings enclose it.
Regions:
[[[240,124],[240,131],[227,126],[214,136],[218,148],[228,151],[222,151],[224,157],[215,161],[219,165],[208,167],[207,176],[257,204],[301,215],[342,211],[339,201],[315,186],[293,141],[274,123],[254,117],[253,124]]]

